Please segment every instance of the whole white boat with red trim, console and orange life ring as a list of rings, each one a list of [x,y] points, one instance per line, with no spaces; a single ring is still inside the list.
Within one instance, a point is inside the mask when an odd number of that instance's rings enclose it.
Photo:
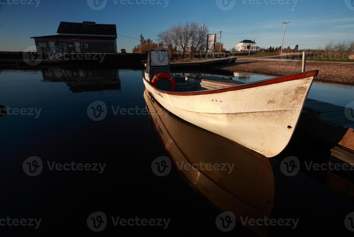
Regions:
[[[289,143],[318,70],[250,83],[226,76],[169,74],[167,51],[149,51],[143,82],[164,108],[273,157]]]

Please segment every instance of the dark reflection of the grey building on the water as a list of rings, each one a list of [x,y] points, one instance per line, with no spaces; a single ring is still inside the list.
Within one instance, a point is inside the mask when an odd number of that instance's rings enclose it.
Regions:
[[[87,91],[121,90],[119,70],[97,69],[42,69],[43,81],[65,82],[73,93]]]

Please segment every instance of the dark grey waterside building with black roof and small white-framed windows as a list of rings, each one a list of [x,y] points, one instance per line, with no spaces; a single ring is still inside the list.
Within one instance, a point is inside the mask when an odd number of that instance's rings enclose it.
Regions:
[[[60,22],[58,35],[31,37],[44,52],[49,48],[66,47],[68,52],[116,53],[117,30],[113,24],[96,22]]]

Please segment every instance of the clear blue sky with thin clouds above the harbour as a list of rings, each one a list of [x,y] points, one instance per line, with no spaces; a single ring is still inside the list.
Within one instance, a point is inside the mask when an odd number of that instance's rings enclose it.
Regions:
[[[172,24],[196,21],[208,25],[210,33],[223,31],[227,49],[244,39],[255,39],[260,47],[279,46],[284,21],[291,22],[286,25],[284,47],[317,48],[354,39],[354,0],[101,1],[99,7],[105,7],[93,10],[93,0],[0,0],[0,51],[25,50],[34,44],[31,36],[57,34],[61,21],[116,24],[118,34],[134,38],[143,34],[145,39],[156,39]],[[135,39],[117,39],[118,49],[127,52],[138,44]]]

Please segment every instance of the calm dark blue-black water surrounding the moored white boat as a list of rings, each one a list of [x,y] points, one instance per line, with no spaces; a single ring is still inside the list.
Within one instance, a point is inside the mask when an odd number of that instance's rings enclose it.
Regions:
[[[140,69],[112,68],[1,70],[0,105],[11,109],[8,110],[11,115],[0,117],[0,219],[41,219],[38,229],[0,226],[2,236],[92,235],[95,232],[89,229],[87,219],[98,211],[107,216],[103,235],[257,236],[240,222],[232,231],[222,232],[216,218],[225,211],[223,202],[227,202],[226,208],[230,210],[242,209],[247,203],[262,200],[265,193],[272,197],[264,200],[270,206],[268,218],[299,219],[295,229],[269,226],[269,236],[352,235],[344,226],[344,218],[354,211],[353,201],[327,187],[327,172],[301,169],[297,175],[288,177],[279,168],[280,161],[288,156],[316,162],[329,156],[329,145],[300,130],[280,155],[268,160],[168,114],[163,118],[164,129],[182,126],[184,133],[189,134],[184,137],[182,133],[171,133],[171,140],[183,144],[182,141],[190,139],[193,145],[188,148],[190,144],[184,143],[178,151],[184,152],[190,160],[207,162],[205,159],[209,157],[233,161],[238,173],[224,183],[210,175],[214,186],[207,181],[191,182],[186,178],[188,173],[180,172],[175,166],[164,177],[155,175],[152,162],[169,155],[174,162],[178,152],[171,153],[170,145],[161,142],[160,130],[152,123],[154,117],[146,113],[148,103],[149,109],[159,108],[159,105],[146,95],[144,99],[142,75]],[[256,75],[252,80],[258,77],[262,78]],[[250,78],[240,76],[240,80]],[[352,87],[341,88],[353,92]],[[327,85],[314,86],[309,97],[327,98],[339,105],[347,102],[345,96],[326,97],[328,90],[331,89]],[[107,109],[103,108],[106,111],[103,119],[99,117],[99,121],[94,121],[97,118],[90,112],[90,104],[97,101],[104,102]],[[128,112],[120,110],[122,108]],[[216,149],[208,153],[201,149],[198,141],[204,139],[216,140]],[[226,152],[223,144],[229,144],[227,148],[234,149],[235,153]],[[42,161],[41,172],[33,177],[24,171],[28,165],[25,160],[32,156]],[[48,162],[50,165],[53,162],[105,165],[103,170],[99,166],[98,170],[51,170]],[[260,170],[264,166],[270,170],[263,179]],[[205,175],[208,177],[208,173]],[[218,177],[218,173],[215,175]],[[270,182],[267,183],[269,189],[262,186],[265,179]],[[201,194],[208,188],[212,197]],[[229,195],[235,203],[228,199]],[[258,206],[262,215],[262,205]],[[151,225],[114,226],[112,216],[170,221],[165,229]]]

